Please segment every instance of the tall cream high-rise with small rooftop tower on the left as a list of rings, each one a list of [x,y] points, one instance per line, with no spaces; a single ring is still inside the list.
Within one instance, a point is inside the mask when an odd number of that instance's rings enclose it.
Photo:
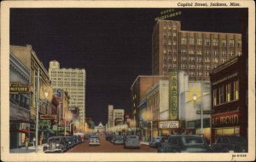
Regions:
[[[61,89],[70,96],[69,107],[79,107],[79,121],[85,123],[85,85],[84,69],[60,68],[58,61],[49,61],[49,79],[54,90]]]

